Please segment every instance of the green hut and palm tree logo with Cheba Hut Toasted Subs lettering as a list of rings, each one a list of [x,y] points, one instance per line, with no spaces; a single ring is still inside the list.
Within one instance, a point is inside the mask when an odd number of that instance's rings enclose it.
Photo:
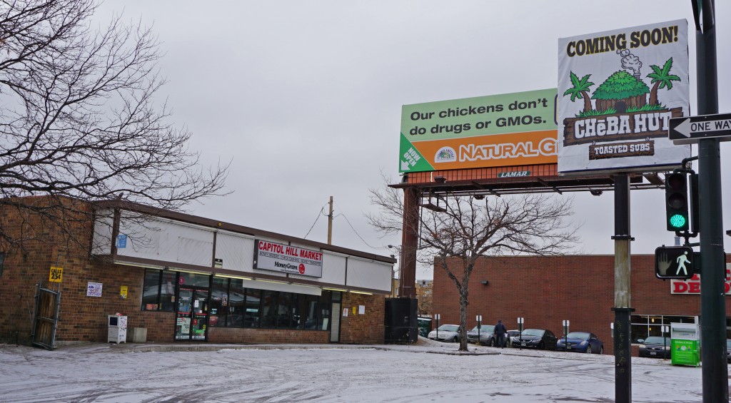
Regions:
[[[673,58],[668,58],[662,67],[650,66],[652,72],[645,76],[650,79],[650,88],[641,78],[640,59],[626,49],[617,53],[621,56],[622,69],[607,77],[591,97],[589,93],[595,85],[589,81],[591,74],[579,78],[569,72],[572,87],[564,96],[570,96],[572,102],[581,100],[582,109],[575,118],[564,119],[564,146],[590,143],[590,160],[653,156],[652,139],[667,137],[670,118],[683,115],[681,107],[665,107],[659,95],[662,89],[671,90],[673,81],[681,81],[671,74]]]

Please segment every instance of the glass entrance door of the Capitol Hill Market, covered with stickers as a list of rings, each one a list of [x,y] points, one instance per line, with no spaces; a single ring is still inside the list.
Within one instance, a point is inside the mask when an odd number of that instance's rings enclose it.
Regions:
[[[179,288],[178,310],[175,315],[176,340],[205,340],[205,328],[208,326],[208,290]]]

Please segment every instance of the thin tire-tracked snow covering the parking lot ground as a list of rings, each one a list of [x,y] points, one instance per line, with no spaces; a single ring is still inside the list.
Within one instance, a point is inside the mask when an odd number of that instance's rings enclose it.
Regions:
[[[416,345],[0,345],[0,402],[613,402],[614,357]],[[632,358],[633,402],[701,402],[701,370]]]

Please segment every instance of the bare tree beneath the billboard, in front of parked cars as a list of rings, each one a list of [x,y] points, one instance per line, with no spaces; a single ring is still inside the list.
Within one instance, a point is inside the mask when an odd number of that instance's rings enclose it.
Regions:
[[[371,226],[385,234],[403,228],[401,191],[371,189],[377,214],[366,215]],[[423,210],[418,229],[417,261],[444,270],[460,296],[460,347],[467,350],[466,326],[469,278],[479,258],[529,253],[552,255],[573,247],[576,226],[572,200],[545,193],[518,196],[444,196],[439,209]],[[443,211],[442,211],[443,210]]]

